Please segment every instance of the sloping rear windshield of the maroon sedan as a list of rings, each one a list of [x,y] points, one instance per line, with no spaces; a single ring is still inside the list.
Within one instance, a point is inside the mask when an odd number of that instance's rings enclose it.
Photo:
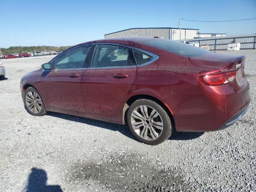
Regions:
[[[186,57],[203,56],[203,55],[212,54],[212,52],[208,50],[198,48],[190,44],[186,44],[178,41],[172,41],[168,39],[152,39],[152,40],[143,41],[142,43],[152,47],[160,48],[172,53],[176,53],[182,56],[186,56]]]

